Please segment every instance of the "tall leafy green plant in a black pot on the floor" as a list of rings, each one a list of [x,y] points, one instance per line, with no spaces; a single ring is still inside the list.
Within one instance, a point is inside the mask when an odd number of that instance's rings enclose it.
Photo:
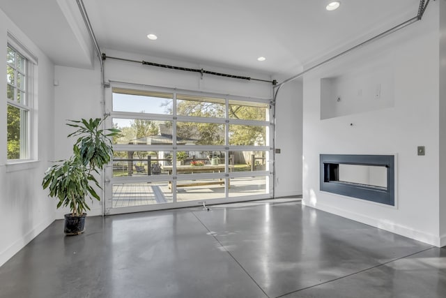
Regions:
[[[95,177],[113,156],[112,141],[109,137],[121,131],[116,128],[101,129],[105,119],[69,120],[68,126],[76,128],[68,137],[77,137],[73,154],[65,161],[59,161],[45,172],[43,189],[49,188],[49,196],[57,198],[57,208],[68,207],[65,214],[65,233],[82,234],[85,230],[86,210],[90,210],[86,198],[100,200],[96,189],[100,184]]]

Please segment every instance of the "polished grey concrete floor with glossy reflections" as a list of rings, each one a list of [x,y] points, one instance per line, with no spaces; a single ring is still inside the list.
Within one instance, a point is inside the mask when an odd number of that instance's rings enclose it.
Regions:
[[[446,249],[247,202],[55,221],[0,267],[0,297],[446,297]]]

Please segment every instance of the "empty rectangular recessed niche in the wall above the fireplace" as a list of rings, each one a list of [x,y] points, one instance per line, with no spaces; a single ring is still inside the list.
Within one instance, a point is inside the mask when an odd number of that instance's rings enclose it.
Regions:
[[[321,119],[393,107],[392,69],[378,63],[321,78]]]

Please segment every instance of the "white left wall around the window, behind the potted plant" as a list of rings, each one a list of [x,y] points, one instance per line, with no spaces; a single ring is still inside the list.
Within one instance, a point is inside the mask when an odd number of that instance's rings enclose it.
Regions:
[[[38,161],[6,165],[6,117],[0,117],[0,265],[54,221],[56,206],[56,202],[47,198],[47,191],[40,186],[43,174],[49,167],[48,161],[54,158],[54,66],[0,10],[0,45],[3,50],[6,49],[7,31],[38,57],[38,74],[35,78],[38,85],[34,98]],[[0,94],[6,94],[5,81],[0,84]],[[0,114],[6,115],[4,102],[0,105]]]

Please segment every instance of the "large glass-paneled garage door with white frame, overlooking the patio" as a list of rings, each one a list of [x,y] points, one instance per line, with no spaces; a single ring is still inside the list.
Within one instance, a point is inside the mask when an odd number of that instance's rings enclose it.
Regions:
[[[114,86],[105,214],[272,197],[269,100]]]

